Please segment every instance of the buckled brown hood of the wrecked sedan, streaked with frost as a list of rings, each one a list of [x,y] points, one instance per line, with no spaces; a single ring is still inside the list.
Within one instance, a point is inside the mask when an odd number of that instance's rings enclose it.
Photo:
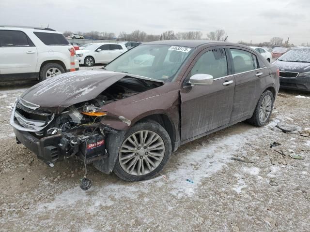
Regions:
[[[27,89],[20,97],[60,113],[73,104],[94,99],[126,75],[104,70],[63,73]]]

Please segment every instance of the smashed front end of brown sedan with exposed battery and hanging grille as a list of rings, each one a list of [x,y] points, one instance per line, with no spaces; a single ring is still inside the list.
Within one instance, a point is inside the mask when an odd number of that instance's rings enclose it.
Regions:
[[[117,131],[100,123],[101,117],[107,115],[98,112],[103,104],[95,99],[56,115],[18,98],[11,116],[17,143],[24,144],[50,166],[74,155],[86,163],[105,159],[106,133]]]

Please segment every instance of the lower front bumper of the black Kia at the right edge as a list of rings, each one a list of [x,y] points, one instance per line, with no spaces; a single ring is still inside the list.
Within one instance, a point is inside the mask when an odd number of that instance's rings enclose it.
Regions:
[[[310,91],[310,76],[280,77],[280,87],[286,89]]]

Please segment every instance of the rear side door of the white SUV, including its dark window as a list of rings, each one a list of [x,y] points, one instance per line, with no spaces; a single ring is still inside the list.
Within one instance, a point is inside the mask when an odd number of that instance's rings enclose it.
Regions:
[[[19,30],[0,30],[0,74],[35,73],[37,49]]]

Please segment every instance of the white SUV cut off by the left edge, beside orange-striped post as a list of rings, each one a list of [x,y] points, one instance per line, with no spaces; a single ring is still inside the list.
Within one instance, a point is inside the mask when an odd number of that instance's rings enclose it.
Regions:
[[[78,70],[71,48],[63,34],[53,29],[0,26],[0,82],[45,80]]]

